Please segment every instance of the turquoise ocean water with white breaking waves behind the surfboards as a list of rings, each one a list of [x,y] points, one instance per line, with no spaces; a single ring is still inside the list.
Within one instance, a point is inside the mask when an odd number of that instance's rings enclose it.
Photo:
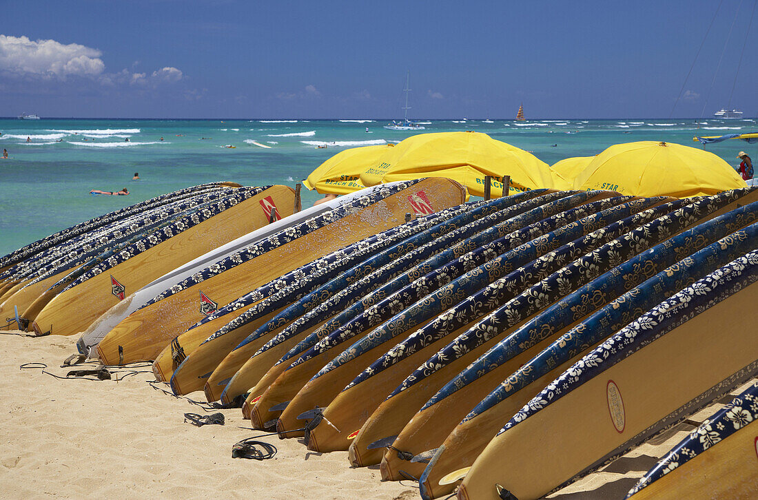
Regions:
[[[387,120],[0,119],[0,148],[8,149],[9,156],[0,160],[0,255],[74,223],[187,186],[218,180],[294,186],[345,148],[397,142],[413,134],[384,129],[386,124]],[[424,127],[424,132],[487,133],[554,164],[595,155],[620,142],[654,140],[701,147],[693,136],[755,131],[758,120],[432,120],[424,121]],[[742,141],[707,146],[732,166],[739,164],[739,151],[751,154],[754,148]],[[758,158],[758,152],[752,153]],[[141,180],[132,180],[135,172]],[[124,187],[130,195],[89,195],[90,189]],[[302,191],[303,206],[321,198]]]

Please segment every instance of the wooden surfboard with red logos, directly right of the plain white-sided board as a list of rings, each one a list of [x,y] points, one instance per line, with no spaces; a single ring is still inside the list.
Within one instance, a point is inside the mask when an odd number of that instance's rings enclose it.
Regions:
[[[401,223],[406,213],[460,205],[464,196],[458,183],[434,177],[381,186],[352,205],[269,236],[162,292],[102,339],[99,358],[107,364],[154,359],[209,311],[201,307],[202,297],[226,304],[318,256]]]

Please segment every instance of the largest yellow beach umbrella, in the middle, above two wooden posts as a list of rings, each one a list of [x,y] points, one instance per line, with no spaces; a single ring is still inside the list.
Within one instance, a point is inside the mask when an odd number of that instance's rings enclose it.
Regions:
[[[484,133],[441,132],[411,136],[388,150],[361,174],[365,186],[394,180],[447,177],[471,195],[484,195],[484,177],[493,177],[491,194],[503,192],[502,177],[511,177],[510,192],[553,187],[547,164],[523,149]]]

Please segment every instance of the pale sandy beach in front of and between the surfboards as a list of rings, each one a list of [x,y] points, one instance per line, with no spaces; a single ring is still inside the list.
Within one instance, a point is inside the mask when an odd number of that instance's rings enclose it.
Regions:
[[[112,370],[113,378],[103,381],[59,380],[40,368],[20,369],[43,363],[61,377],[91,369],[94,364],[61,367],[76,351],[76,339],[0,335],[6,408],[0,417],[0,489],[6,498],[419,498],[412,481],[382,482],[378,467],[350,467],[347,452],[309,452],[299,439],[262,438],[278,450],[266,461],[232,458],[234,443],[261,433],[249,430],[239,409],[221,410],[224,426],[193,426],[185,413],[220,410],[205,411],[154,389],[149,367]],[[191,396],[203,399],[201,392]],[[624,498],[694,422],[721,406],[704,408],[550,498]]]

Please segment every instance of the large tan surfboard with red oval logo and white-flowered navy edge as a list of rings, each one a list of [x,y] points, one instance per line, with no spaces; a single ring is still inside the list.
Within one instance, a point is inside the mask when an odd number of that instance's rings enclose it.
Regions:
[[[466,474],[459,498],[498,498],[494,483],[517,498],[539,498],[751,377],[758,367],[751,329],[758,320],[751,306],[756,280],[758,253],[750,251],[581,358],[492,439]],[[539,430],[546,428],[565,461],[536,452],[535,443],[546,440],[535,432],[544,436]]]

